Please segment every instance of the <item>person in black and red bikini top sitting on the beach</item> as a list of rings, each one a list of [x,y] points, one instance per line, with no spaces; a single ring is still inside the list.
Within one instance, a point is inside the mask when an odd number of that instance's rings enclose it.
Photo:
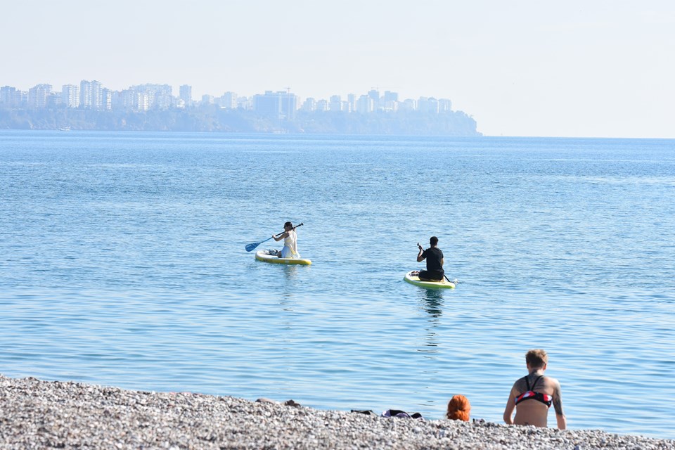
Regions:
[[[555,378],[544,376],[548,355],[541,349],[530,350],[525,354],[525,362],[529,374],[513,383],[504,409],[504,422],[546,427],[548,409],[553,405],[558,428],[565,430],[567,419],[560,399],[560,383]]]

